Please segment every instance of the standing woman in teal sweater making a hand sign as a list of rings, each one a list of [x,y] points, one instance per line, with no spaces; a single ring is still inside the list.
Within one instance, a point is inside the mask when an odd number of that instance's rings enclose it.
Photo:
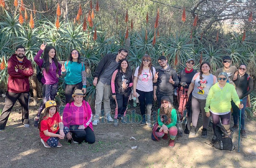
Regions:
[[[80,53],[76,49],[71,50],[68,61],[62,64],[61,75],[65,76],[66,104],[71,103],[72,94],[76,89],[86,93],[86,71]]]

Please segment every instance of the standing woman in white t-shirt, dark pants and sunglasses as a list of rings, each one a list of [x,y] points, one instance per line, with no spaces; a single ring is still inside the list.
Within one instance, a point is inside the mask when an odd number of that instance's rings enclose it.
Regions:
[[[153,73],[152,73],[153,72]],[[153,103],[153,80],[155,68],[152,66],[151,58],[147,54],[142,57],[142,63],[138,66],[134,73],[133,80],[133,96],[137,97],[139,94],[140,112],[142,115],[141,126],[145,124],[152,127],[151,124],[151,108]],[[147,108],[147,121],[146,121],[146,108]]]

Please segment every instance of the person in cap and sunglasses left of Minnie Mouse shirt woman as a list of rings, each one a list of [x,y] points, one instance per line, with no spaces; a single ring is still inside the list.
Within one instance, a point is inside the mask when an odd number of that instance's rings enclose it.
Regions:
[[[188,100],[188,87],[189,84],[192,81],[193,76],[196,74],[196,71],[193,69],[193,66],[195,64],[195,60],[190,58],[186,62],[186,68],[182,69],[181,72],[178,74],[178,79],[180,81],[180,87],[177,89],[177,96],[178,96],[178,102],[179,107],[178,111],[181,114],[181,119],[183,117],[183,113],[185,110],[185,105]],[[191,109],[191,108],[190,108]],[[191,124],[191,112],[187,112],[189,116],[187,116],[187,125],[185,125],[186,129],[184,132],[186,134],[189,134],[190,124]]]

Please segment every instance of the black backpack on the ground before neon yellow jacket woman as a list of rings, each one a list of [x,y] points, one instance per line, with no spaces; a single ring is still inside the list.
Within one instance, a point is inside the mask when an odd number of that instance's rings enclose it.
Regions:
[[[224,127],[218,123],[214,129],[215,135],[213,135],[211,144],[215,149],[220,150],[234,150],[235,146],[233,145],[232,139],[227,134],[227,131],[224,129]]]

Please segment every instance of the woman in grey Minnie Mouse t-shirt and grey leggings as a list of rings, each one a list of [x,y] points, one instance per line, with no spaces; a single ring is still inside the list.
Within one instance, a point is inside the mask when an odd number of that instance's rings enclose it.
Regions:
[[[201,133],[202,138],[207,138],[207,127],[210,118],[206,116],[204,107],[206,105],[206,98],[212,85],[217,81],[217,77],[210,73],[211,65],[208,62],[202,62],[200,65],[200,72],[193,76],[191,84],[188,88],[188,97],[192,92],[192,128],[189,135],[196,135],[196,126],[200,110],[203,117],[203,129]]]

